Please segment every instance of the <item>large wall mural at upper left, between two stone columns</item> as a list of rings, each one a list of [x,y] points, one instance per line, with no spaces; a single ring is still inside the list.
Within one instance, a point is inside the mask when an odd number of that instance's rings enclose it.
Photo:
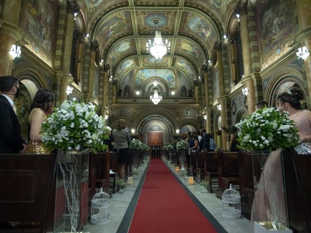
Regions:
[[[57,5],[49,0],[26,0],[20,27],[33,41],[26,47],[52,66]]]

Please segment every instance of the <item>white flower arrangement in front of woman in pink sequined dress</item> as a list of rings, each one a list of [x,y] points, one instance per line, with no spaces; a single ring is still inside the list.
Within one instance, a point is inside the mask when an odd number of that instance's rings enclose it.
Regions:
[[[287,112],[280,109],[261,108],[246,116],[238,128],[239,148],[243,150],[274,150],[294,148],[299,143],[298,129]]]

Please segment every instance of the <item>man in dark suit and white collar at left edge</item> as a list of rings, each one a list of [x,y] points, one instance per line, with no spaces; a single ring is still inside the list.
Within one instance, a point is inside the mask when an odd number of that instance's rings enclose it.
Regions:
[[[17,78],[0,77],[0,91],[0,153],[23,153],[26,142],[20,135],[20,125],[13,102],[20,93]]]

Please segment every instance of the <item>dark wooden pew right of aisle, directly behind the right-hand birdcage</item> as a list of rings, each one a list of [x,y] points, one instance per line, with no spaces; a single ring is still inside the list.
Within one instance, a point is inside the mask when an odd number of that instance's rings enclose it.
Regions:
[[[222,198],[230,183],[239,185],[238,152],[218,150],[218,190],[216,197]]]

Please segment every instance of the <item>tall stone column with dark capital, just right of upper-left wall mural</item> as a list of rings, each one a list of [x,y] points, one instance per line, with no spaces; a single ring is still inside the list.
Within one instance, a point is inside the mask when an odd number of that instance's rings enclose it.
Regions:
[[[79,11],[79,5],[75,1],[68,2],[67,10],[67,22],[66,22],[66,33],[64,40],[64,57],[62,71],[64,75],[61,80],[59,101],[63,102],[67,100],[67,86],[72,82],[73,78],[70,75],[70,60],[71,60],[71,47],[72,47],[72,35],[74,26],[74,12]]]

